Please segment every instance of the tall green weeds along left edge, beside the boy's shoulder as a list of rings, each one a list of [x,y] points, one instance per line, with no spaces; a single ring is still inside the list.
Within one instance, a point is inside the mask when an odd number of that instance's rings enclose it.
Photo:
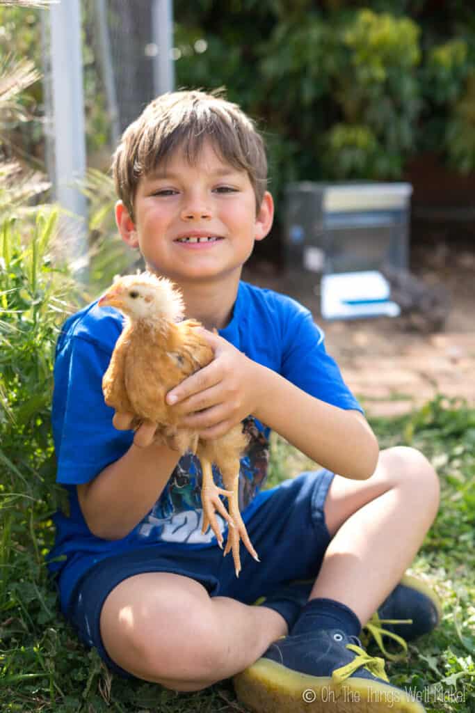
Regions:
[[[41,521],[56,510],[51,437],[53,356],[72,281],[51,255],[54,207],[36,220],[6,218],[0,225],[0,510],[4,558],[33,544],[43,567]],[[21,533],[21,534],[20,534]],[[11,572],[4,571],[0,609],[9,607]],[[32,573],[33,574],[33,573]],[[6,593],[10,591],[10,594]]]

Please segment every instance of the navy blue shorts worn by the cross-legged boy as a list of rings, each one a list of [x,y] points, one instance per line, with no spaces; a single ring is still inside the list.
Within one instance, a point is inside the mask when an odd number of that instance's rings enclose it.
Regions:
[[[284,582],[315,578],[330,542],[323,506],[333,480],[330,471],[301,473],[285,481],[246,523],[259,558],[256,562],[241,545],[239,578],[232,555],[223,557],[217,546],[190,550],[186,545],[160,543],[105,558],[76,585],[68,619],[80,640],[95,647],[110,670],[130,677],[110,659],[100,637],[100,612],[108,594],[122,580],[145,572],[168,572],[190,577],[211,597],[232,597],[252,604]]]

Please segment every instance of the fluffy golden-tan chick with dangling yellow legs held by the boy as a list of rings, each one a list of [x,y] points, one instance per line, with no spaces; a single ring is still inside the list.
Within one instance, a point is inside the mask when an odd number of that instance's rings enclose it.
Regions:
[[[259,561],[239,512],[239,458],[248,445],[241,425],[205,441],[195,431],[177,428],[179,417],[165,401],[167,392],[214,358],[200,322],[183,319],[182,295],[165,277],[150,273],[116,280],[100,298],[100,307],[116,307],[125,315],[125,327],[115,344],[103,376],[105,403],[115,411],[134,414],[133,425],[157,424],[155,437],[179,453],[192,451],[202,464],[202,506],[205,533],[211,525],[222,547],[215,511],[229,523],[224,555],[232,551],[236,577],[241,571],[239,543]],[[212,463],[221,471],[226,488],[213,480]],[[228,498],[229,513],[219,496]]]

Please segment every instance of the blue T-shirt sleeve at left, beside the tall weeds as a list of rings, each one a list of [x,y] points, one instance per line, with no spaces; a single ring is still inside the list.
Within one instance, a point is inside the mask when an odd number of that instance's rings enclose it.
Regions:
[[[132,431],[117,431],[104,401],[102,379],[112,352],[69,337],[56,355],[53,435],[58,483],[92,480],[130,447]]]

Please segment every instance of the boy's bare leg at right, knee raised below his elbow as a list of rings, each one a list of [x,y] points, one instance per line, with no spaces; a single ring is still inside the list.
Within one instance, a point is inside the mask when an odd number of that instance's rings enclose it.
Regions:
[[[342,602],[364,625],[412,563],[438,506],[437,473],[414,448],[381,451],[367,481],[335,477],[325,501],[333,540],[310,599]]]

